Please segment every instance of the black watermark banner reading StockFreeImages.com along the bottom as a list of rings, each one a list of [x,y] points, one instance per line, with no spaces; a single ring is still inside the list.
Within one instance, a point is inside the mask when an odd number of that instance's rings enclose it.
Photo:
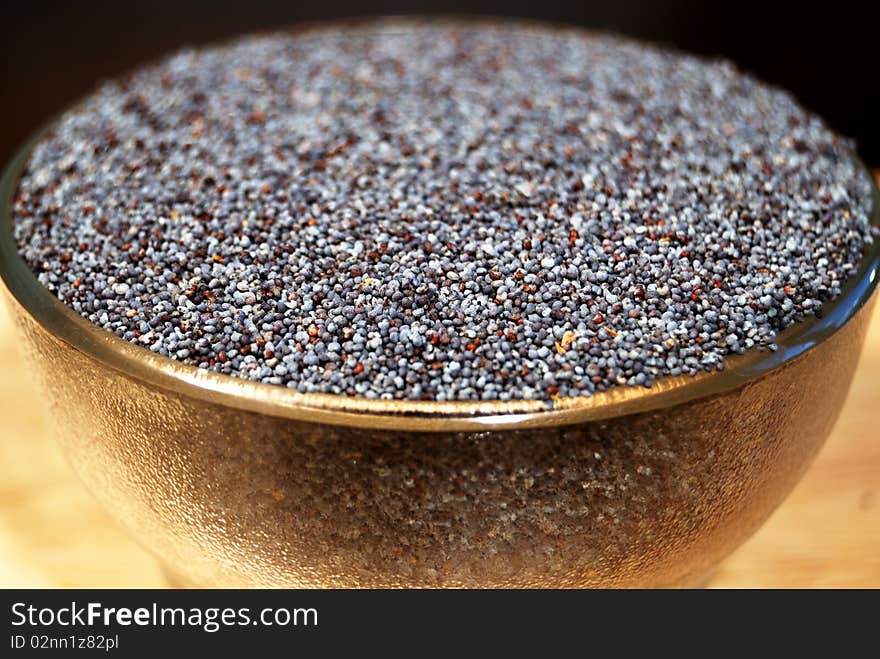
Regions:
[[[314,607],[317,627],[13,626],[16,602],[35,607]],[[0,591],[3,656],[11,636],[119,635],[88,656],[578,657],[667,654],[861,656],[876,645],[876,591],[35,590]],[[274,651],[274,652],[273,652]],[[808,652],[809,651],[809,652]],[[84,653],[76,654],[81,656]]]

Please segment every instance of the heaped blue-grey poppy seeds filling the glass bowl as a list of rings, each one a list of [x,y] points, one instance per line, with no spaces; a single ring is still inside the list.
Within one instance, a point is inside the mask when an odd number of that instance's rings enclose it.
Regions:
[[[544,400],[723,368],[872,241],[788,94],[573,30],[376,23],[188,50],[34,148],[20,253],[91,322],[301,392]]]

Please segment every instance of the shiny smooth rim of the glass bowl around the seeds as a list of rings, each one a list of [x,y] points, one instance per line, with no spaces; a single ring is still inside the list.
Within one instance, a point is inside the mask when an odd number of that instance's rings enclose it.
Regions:
[[[75,107],[74,104],[71,107]],[[60,115],[58,115],[60,116]],[[129,379],[209,403],[314,423],[399,431],[489,431],[601,421],[687,403],[736,389],[767,375],[826,340],[851,320],[877,287],[880,240],[865,250],[841,293],[810,316],[779,333],[775,352],[756,348],[729,355],[721,371],[658,378],[650,388],[618,385],[591,396],[513,401],[413,401],[300,393],[276,385],[200,369],[134,345],[78,315],[45,288],[18,253],[13,199],[35,144],[58,116],[36,131],[0,176],[0,279],[11,298],[43,330],[70,348]],[[880,226],[880,190],[871,172],[871,224]]]

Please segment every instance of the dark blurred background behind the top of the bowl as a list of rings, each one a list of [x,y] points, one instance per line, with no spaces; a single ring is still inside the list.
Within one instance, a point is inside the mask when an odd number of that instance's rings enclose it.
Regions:
[[[373,14],[523,16],[610,29],[723,55],[788,88],[880,165],[876,22],[870,2],[394,2],[117,0],[4,3],[0,161],[47,118],[101,78],[185,44],[300,21]]]

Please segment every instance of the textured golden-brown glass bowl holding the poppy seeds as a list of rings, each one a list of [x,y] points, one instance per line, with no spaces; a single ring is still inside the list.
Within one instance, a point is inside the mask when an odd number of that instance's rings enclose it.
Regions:
[[[0,181],[0,276],[21,344],[83,481],[192,585],[700,583],[829,434],[880,263],[878,241],[777,352],[651,389],[552,410],[300,394],[157,356],[43,288],[11,231],[28,152]]]

